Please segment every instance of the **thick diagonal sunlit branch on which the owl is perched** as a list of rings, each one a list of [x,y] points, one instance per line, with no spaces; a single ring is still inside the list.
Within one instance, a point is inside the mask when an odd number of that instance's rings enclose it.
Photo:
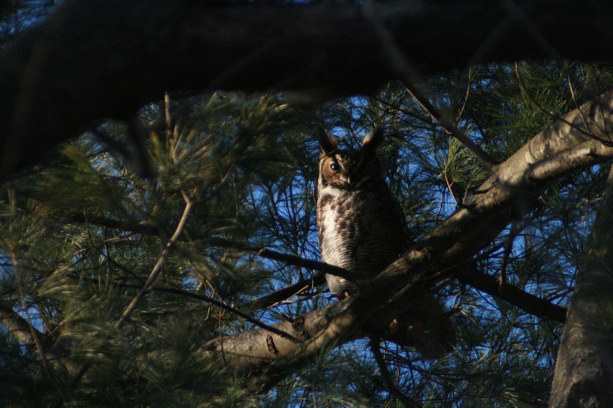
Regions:
[[[585,103],[531,139],[501,163],[465,206],[417,242],[368,285],[328,308],[277,325],[291,341],[266,330],[228,336],[205,345],[205,360],[249,373],[246,393],[267,390],[314,356],[367,332],[383,332],[424,281],[444,277],[522,217],[554,180],[613,158],[613,97]],[[462,276],[459,276],[462,279]]]

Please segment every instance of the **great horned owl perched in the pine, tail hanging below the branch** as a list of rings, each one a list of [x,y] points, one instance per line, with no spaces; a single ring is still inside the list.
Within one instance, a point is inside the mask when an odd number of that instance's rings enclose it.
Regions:
[[[381,171],[376,149],[378,129],[359,150],[339,149],[328,133],[320,138],[317,226],[321,260],[355,273],[356,280],[326,275],[330,292],[344,299],[357,282],[377,275],[409,246],[402,209]],[[451,351],[454,329],[444,308],[431,294],[417,295],[411,310],[394,321],[394,341],[416,346],[426,358]]]

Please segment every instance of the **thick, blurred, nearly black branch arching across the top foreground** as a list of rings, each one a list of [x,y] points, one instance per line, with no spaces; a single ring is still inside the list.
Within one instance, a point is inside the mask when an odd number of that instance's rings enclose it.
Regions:
[[[606,0],[373,6],[425,75],[536,57],[613,61]],[[367,94],[402,76],[383,48],[356,5],[67,1],[0,52],[0,179],[166,91],[305,91],[311,102]]]

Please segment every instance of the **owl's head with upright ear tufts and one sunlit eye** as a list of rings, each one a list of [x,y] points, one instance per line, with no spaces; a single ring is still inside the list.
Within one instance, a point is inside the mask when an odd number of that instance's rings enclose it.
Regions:
[[[319,184],[341,190],[357,190],[362,183],[381,177],[381,163],[376,149],[383,141],[383,130],[376,128],[368,133],[359,150],[338,147],[337,141],[327,132],[319,136],[321,160],[319,160]]]

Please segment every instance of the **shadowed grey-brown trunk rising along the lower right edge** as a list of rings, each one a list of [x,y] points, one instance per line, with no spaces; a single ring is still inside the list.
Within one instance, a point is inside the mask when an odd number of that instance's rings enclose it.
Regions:
[[[551,408],[613,406],[613,168],[562,332]]]

